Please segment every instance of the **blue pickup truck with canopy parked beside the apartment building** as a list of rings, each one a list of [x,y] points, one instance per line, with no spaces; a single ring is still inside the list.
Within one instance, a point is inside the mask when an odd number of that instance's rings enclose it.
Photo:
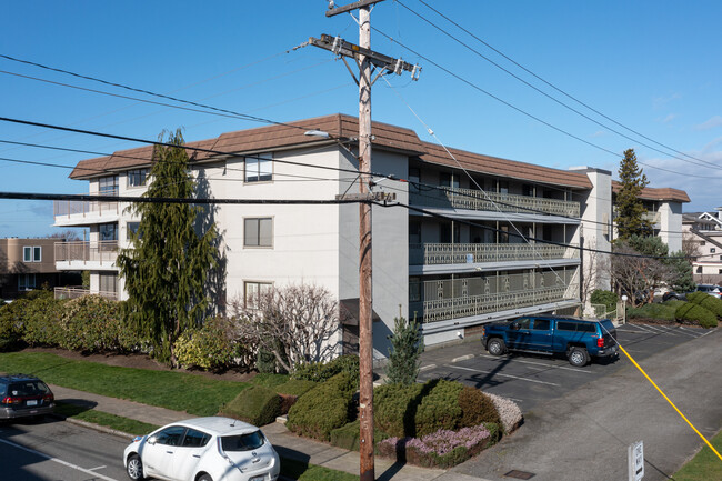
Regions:
[[[508,350],[542,354],[563,353],[575,367],[592,358],[618,355],[616,329],[609,319],[528,315],[492,322],[482,329],[481,343],[492,355]]]

